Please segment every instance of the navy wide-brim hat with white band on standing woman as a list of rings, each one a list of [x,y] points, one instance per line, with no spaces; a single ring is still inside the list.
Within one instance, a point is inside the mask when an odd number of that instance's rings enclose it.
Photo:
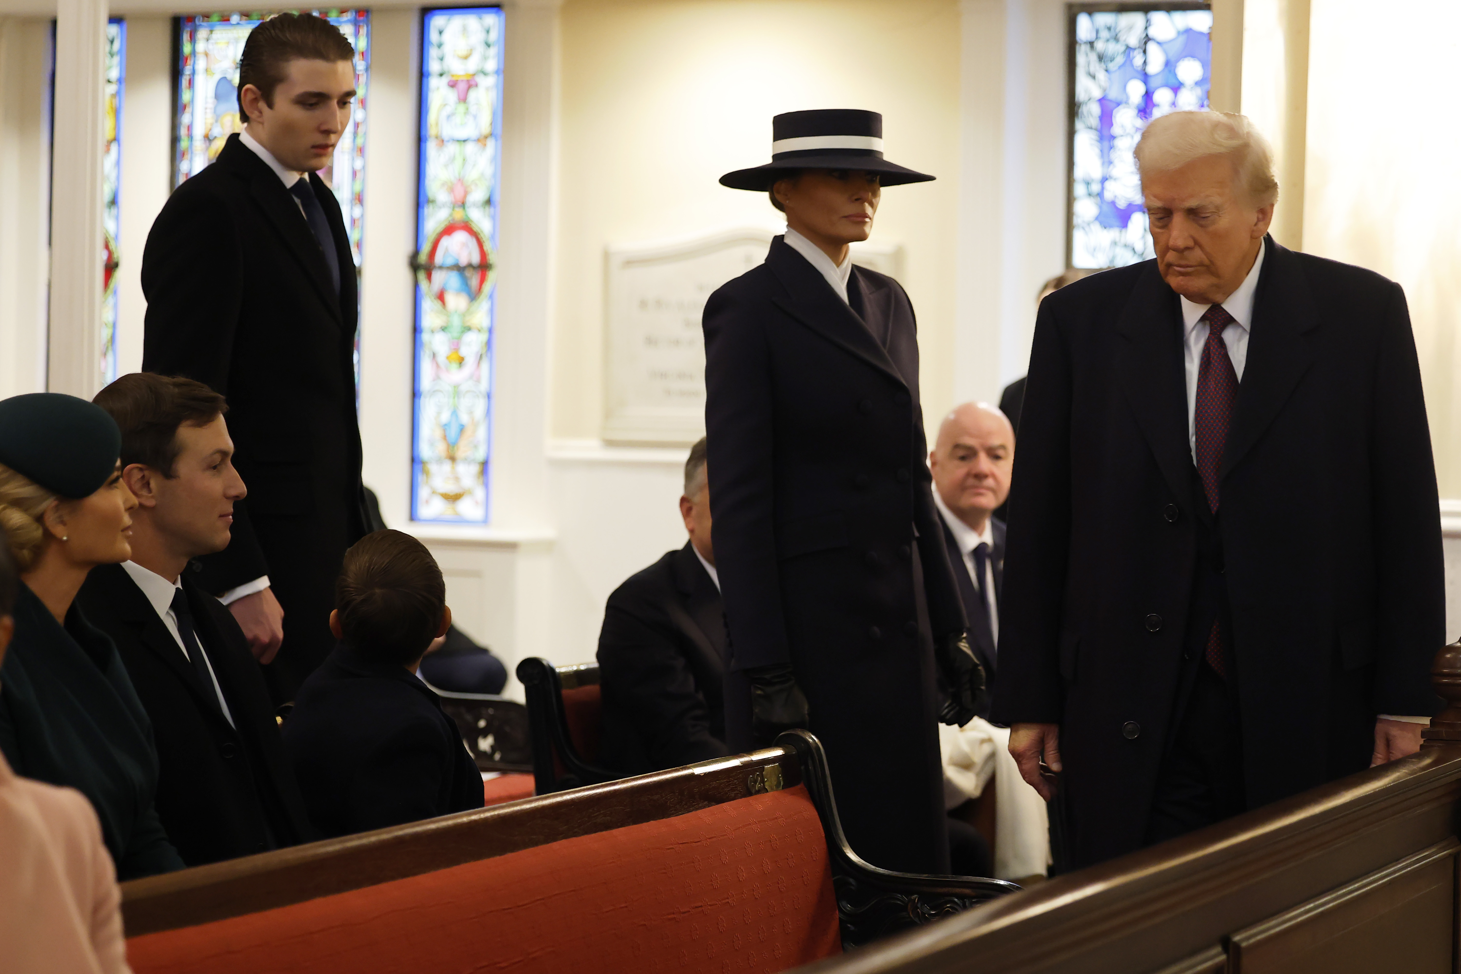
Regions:
[[[878,172],[882,185],[934,180],[882,158],[882,115],[878,112],[823,108],[789,111],[773,118],[771,161],[726,172],[720,185],[764,193],[796,169],[866,169]]]

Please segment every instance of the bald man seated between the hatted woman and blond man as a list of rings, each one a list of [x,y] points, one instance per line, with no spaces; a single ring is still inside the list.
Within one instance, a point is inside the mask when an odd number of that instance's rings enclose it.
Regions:
[[[969,616],[969,644],[985,666],[979,716],[989,717],[999,648],[1005,526],[995,510],[1010,496],[1014,426],[988,403],[964,403],[944,418],[928,454],[944,545]]]

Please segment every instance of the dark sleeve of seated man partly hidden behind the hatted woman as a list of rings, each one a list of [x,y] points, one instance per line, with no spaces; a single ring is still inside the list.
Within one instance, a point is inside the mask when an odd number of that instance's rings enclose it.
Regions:
[[[611,597],[599,634],[603,705],[633,727],[655,770],[729,753],[710,735],[710,711],[668,622]]]

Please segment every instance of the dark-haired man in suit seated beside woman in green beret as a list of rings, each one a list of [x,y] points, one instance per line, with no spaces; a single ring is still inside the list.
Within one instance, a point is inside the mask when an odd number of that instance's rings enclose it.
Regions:
[[[162,828],[188,866],[310,841],[248,640],[186,571],[228,546],[245,495],[224,397],[137,372],[95,402],[121,428],[123,480],[137,510],[131,561],[94,568],[76,605],[117,644],[152,720]]]

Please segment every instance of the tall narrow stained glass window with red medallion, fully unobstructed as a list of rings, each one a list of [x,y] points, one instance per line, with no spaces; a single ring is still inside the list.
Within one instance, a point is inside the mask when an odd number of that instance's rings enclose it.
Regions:
[[[503,12],[422,19],[411,515],[487,521]]]

